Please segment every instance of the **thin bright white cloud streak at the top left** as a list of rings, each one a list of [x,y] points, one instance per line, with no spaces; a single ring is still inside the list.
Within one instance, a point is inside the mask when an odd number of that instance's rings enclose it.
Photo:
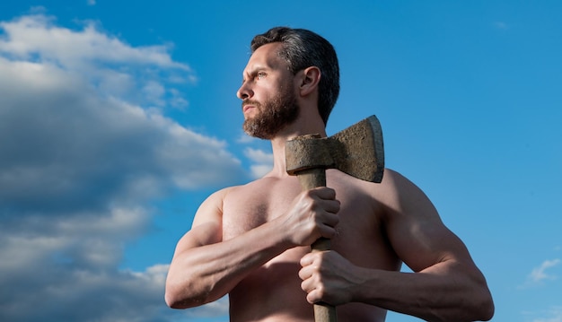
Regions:
[[[58,27],[54,21],[51,16],[35,14],[1,22],[5,37],[0,41],[0,51],[15,58],[40,58],[74,68],[112,62],[190,70],[188,65],[171,59],[169,47],[134,48],[97,30],[94,22],[86,22],[83,30],[69,30]]]

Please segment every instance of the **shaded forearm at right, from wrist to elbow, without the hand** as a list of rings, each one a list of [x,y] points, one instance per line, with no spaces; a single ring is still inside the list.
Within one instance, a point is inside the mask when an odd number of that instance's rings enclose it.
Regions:
[[[489,320],[494,304],[479,272],[461,264],[440,263],[419,273],[364,269],[354,301],[361,301],[427,321]]]

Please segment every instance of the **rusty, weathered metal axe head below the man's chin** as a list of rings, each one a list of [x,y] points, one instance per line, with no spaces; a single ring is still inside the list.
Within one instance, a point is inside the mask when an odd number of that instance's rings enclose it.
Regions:
[[[381,182],[384,171],[382,129],[375,116],[367,117],[335,135],[303,135],[285,146],[290,175],[314,168],[335,168],[355,178]]]

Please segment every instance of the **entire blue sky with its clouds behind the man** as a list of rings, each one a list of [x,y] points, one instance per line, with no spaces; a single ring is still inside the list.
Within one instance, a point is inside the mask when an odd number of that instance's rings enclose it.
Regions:
[[[226,321],[163,281],[202,200],[259,177],[235,91],[253,35],[338,51],[333,134],[375,114],[487,276],[494,321],[562,321],[557,1],[4,1],[0,320]],[[388,321],[417,321],[389,314]]]

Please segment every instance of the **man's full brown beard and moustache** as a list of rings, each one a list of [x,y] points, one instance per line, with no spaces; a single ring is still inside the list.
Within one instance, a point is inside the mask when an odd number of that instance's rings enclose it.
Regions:
[[[285,126],[292,124],[300,112],[296,98],[290,91],[281,92],[264,104],[256,100],[244,100],[242,107],[247,104],[255,106],[258,113],[244,120],[244,132],[265,140],[271,140]]]

